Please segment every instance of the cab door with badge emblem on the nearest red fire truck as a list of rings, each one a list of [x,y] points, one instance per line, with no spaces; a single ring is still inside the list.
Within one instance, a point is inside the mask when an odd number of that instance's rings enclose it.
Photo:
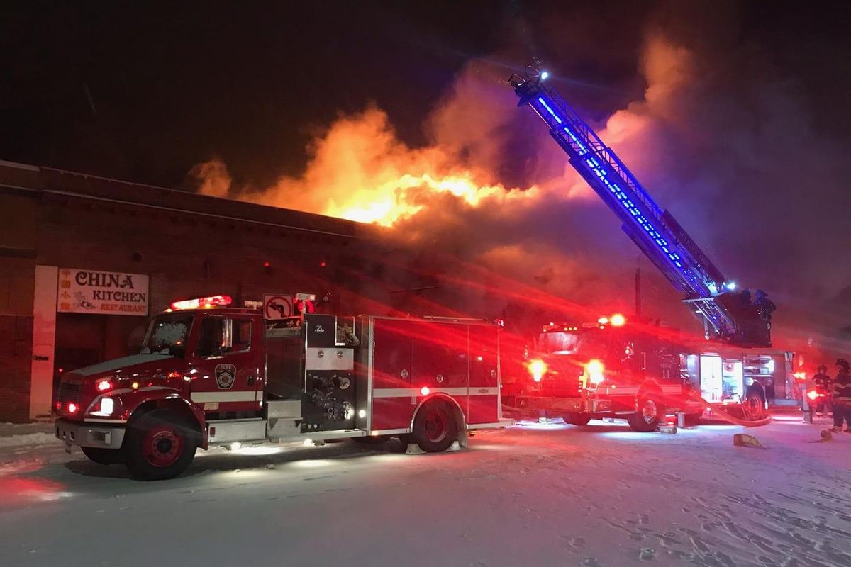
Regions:
[[[260,410],[262,336],[250,315],[204,314],[191,356],[191,400],[205,413]]]

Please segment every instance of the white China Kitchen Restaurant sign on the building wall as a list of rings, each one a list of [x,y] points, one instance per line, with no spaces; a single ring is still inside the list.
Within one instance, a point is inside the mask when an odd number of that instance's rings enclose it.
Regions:
[[[148,315],[148,276],[60,268],[56,310],[94,315]]]

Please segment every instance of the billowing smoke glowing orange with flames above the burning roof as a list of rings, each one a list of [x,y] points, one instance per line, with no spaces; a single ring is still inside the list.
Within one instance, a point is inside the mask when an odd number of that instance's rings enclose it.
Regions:
[[[781,342],[842,349],[851,241],[831,212],[848,206],[848,147],[825,143],[797,82],[770,60],[746,45],[717,47],[648,32],[643,96],[592,125],[728,278],[771,294]],[[298,177],[233,187],[216,160],[193,173],[208,195],[391,227],[404,251],[383,259],[403,269],[384,284],[430,288],[418,292],[420,307],[529,320],[630,313],[637,250],[538,117],[514,108],[506,75],[494,63],[466,65],[426,118],[422,147],[405,145],[369,106],[314,139]],[[641,265],[644,312],[696,330]]]

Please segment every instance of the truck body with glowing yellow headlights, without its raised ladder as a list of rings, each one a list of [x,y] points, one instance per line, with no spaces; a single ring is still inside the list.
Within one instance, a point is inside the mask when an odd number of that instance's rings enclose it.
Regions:
[[[653,431],[680,412],[696,422],[707,405],[757,420],[792,363],[791,352],[777,349],[689,345],[675,330],[618,314],[581,325],[551,322],[526,358],[524,376],[504,392],[520,415],[574,425],[620,417],[636,431]]]

